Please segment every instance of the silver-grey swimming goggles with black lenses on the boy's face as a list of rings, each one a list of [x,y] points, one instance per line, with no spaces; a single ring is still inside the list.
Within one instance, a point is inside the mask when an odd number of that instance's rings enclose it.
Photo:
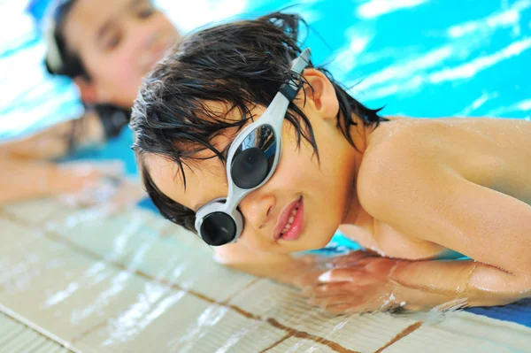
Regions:
[[[236,242],[244,218],[238,209],[243,197],[269,180],[281,157],[281,130],[289,103],[302,87],[296,77],[310,62],[310,49],[291,63],[292,77],[286,81],[262,116],[236,136],[227,154],[227,198],[205,204],[196,212],[196,231],[209,245]]]

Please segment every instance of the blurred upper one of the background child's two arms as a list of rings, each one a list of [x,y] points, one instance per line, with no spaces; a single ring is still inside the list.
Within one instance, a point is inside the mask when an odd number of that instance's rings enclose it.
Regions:
[[[96,112],[77,120],[65,121],[25,139],[0,144],[4,155],[22,159],[52,159],[65,156],[71,148],[102,142],[104,128]]]

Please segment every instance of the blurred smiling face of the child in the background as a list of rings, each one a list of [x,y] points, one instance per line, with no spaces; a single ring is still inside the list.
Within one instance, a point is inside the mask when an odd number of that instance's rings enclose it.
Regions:
[[[180,38],[147,0],[78,0],[64,33],[91,79],[75,80],[82,99],[123,107],[132,106],[142,77]]]

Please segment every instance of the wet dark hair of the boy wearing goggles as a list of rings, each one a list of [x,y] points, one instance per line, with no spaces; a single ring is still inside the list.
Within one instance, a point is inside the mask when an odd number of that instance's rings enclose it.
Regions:
[[[135,150],[142,182],[158,211],[173,223],[196,233],[195,212],[174,202],[155,185],[144,157],[156,154],[176,163],[186,188],[185,167],[200,150],[226,162],[223,152],[212,145],[212,138],[228,127],[242,128],[253,119],[255,106],[267,106],[290,77],[290,63],[301,52],[297,43],[299,23],[294,14],[273,12],[256,20],[240,20],[200,30],[189,35],[144,79],[132,111],[130,127],[135,134]],[[309,67],[313,67],[312,64]],[[340,111],[337,127],[354,146],[350,127],[356,114],[364,126],[377,127],[385,120],[377,110],[367,108],[350,96],[324,68],[335,88]],[[299,80],[304,78],[298,77]],[[305,91],[304,91],[305,95]],[[305,97],[305,96],[304,96]],[[242,119],[227,120],[227,112],[212,110],[208,102],[226,104]],[[297,142],[318,146],[310,121],[304,112],[289,104],[286,118],[295,127]]]

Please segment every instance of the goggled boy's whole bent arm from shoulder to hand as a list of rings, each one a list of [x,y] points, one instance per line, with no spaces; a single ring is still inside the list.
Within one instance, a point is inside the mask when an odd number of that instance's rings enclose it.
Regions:
[[[494,305],[531,295],[531,206],[464,179],[421,149],[398,151],[362,165],[360,203],[401,234],[477,262],[367,258],[321,277],[335,283],[312,288],[314,302],[352,308],[466,297],[470,305]]]

